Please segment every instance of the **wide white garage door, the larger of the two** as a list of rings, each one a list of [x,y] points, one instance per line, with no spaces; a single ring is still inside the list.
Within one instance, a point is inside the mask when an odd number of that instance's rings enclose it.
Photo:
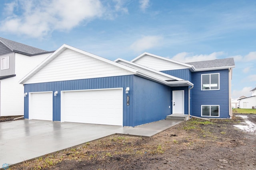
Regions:
[[[122,126],[122,88],[62,91],[61,121]]]

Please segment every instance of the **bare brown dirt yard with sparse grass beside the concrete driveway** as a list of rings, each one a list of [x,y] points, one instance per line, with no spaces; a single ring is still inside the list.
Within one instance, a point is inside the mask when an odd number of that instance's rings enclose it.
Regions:
[[[150,138],[113,135],[10,169],[256,170],[256,115],[238,116],[192,118]]]

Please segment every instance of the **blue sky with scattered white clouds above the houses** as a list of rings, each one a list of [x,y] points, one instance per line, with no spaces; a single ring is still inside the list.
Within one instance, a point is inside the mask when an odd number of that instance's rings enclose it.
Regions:
[[[256,87],[255,0],[0,0],[0,37],[112,61],[144,52],[184,63],[233,57],[232,98]]]

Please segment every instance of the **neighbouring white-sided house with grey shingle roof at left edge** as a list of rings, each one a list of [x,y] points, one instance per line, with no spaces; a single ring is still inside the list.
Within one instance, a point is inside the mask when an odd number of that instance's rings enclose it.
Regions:
[[[19,80],[51,53],[0,37],[0,116],[24,115]]]

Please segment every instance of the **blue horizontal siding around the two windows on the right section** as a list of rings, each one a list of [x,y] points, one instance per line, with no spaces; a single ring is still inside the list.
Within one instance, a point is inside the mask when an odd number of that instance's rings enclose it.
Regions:
[[[220,73],[220,90],[201,90],[201,74]],[[220,105],[220,118],[229,118],[228,69],[192,73],[190,114],[201,117],[201,105]],[[197,82],[197,83],[196,83]]]

